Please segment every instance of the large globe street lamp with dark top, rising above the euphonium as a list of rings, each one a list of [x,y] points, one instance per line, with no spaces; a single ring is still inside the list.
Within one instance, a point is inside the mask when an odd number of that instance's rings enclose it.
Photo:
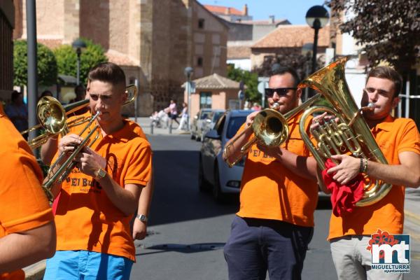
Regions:
[[[316,70],[316,48],[318,48],[318,31],[328,23],[330,15],[323,6],[309,8],[306,15],[307,24],[315,29],[314,49],[312,50],[312,73]]]

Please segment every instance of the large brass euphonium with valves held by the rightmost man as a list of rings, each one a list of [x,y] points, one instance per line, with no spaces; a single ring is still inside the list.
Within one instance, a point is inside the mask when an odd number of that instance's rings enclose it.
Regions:
[[[384,154],[379,149],[370,128],[361,117],[356,102],[349,91],[344,77],[344,66],[348,57],[342,57],[320,69],[306,78],[298,87],[311,87],[321,92],[331,106],[313,106],[307,109],[300,119],[300,134],[318,167],[325,169],[325,161],[333,154],[351,153],[356,158],[364,158],[383,164],[388,164]],[[315,112],[328,112],[339,118],[323,125],[320,132],[312,132],[317,146],[312,144],[305,132],[305,120]],[[392,185],[380,180],[373,180],[365,175],[363,198],[356,206],[363,207],[381,200],[391,190]]]

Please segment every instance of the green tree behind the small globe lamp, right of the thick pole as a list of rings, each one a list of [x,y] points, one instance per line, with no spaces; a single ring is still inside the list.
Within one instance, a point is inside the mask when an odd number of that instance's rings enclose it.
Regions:
[[[89,70],[101,62],[108,62],[108,57],[104,54],[101,45],[93,43],[91,40],[82,38],[86,43],[86,49],[80,55],[80,82],[86,82]],[[57,58],[58,73],[77,76],[77,55],[71,45],[61,45],[54,50]]]

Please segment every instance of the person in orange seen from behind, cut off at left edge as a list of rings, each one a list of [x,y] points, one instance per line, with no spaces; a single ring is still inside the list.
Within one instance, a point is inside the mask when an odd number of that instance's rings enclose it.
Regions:
[[[0,279],[25,279],[21,269],[55,253],[54,216],[27,141],[0,103]]]

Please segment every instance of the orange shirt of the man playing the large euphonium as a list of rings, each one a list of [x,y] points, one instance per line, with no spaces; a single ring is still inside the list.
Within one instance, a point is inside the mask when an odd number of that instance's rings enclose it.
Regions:
[[[383,123],[372,127],[372,133],[389,165],[400,165],[399,153],[411,151],[420,154],[419,130],[412,119],[388,116]],[[332,214],[328,240],[344,235],[372,235],[378,229],[402,234],[404,196],[404,187],[392,186],[388,195],[375,204],[356,207],[344,217]]]

